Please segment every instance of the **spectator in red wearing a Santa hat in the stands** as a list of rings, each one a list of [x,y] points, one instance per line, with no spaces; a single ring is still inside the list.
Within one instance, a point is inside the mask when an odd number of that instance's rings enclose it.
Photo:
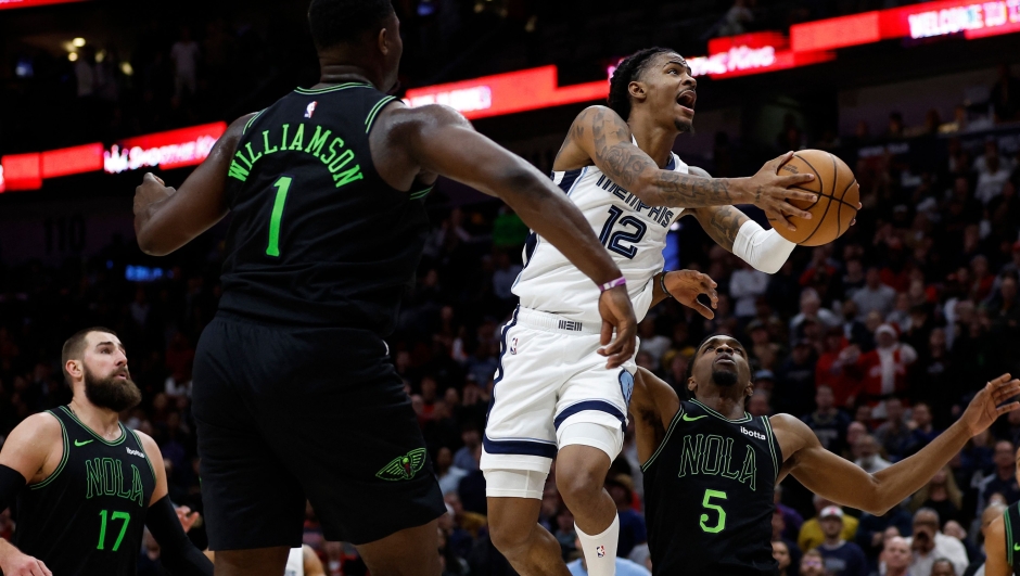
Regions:
[[[909,344],[898,340],[896,329],[882,324],[875,331],[877,346],[874,350],[862,354],[856,368],[864,376],[862,392],[867,401],[879,404],[876,417],[884,412],[883,404],[894,394],[907,389],[909,367],[917,361],[917,351]]]

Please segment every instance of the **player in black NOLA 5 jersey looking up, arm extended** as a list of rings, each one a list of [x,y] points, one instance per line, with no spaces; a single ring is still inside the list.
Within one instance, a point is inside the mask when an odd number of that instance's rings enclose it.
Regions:
[[[710,336],[698,347],[687,388],[692,399],[681,401],[643,369],[634,384],[630,411],[654,574],[776,574],[773,489],[787,474],[823,498],[882,515],[927,484],[967,440],[1020,408],[1004,405],[1020,393],[1020,381],[1004,374],[921,451],[868,474],[826,450],[796,418],[748,414],[748,353],[730,336]]]

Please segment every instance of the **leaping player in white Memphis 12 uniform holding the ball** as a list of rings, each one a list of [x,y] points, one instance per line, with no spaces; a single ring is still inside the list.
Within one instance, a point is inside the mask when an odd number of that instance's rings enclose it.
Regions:
[[[774,226],[792,229],[786,215],[809,215],[785,199],[815,200],[787,190],[811,175],[776,176],[792,153],[752,178],[711,179],[688,168],[672,148],[690,129],[696,87],[687,63],[672,50],[637,52],[614,73],[609,107],[591,106],[577,116],[553,164],[553,180],[623,271],[639,320],[671,295],[713,317],[697,302],[704,293],[714,306],[711,279],[663,270],[666,234],[683,214],[692,214],[726,249],[774,273],[794,244],[731,205],[753,203]],[[483,437],[490,535],[518,573],[568,574],[556,538],[537,522],[556,457],[557,486],[574,514],[588,573],[612,575],[620,523],[602,486],[623,445],[635,364],[608,369],[598,356],[595,286],[535,234],[524,253],[525,267],[513,287],[521,304],[502,329]]]

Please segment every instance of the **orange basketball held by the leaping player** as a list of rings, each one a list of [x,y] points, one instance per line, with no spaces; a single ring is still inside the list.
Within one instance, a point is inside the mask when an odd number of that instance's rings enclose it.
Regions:
[[[779,174],[814,174],[815,179],[799,187],[816,192],[814,203],[791,200],[790,204],[811,213],[811,220],[789,216],[796,230],[778,226],[779,235],[801,246],[820,246],[843,235],[857,216],[860,187],[846,163],[821,150],[801,150],[779,168]]]

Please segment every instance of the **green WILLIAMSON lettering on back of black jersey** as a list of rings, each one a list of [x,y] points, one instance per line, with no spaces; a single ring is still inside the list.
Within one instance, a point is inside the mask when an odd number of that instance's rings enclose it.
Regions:
[[[315,132],[311,131],[313,126],[306,128],[305,123],[301,123],[291,130],[291,125],[284,124],[278,129],[263,130],[262,138],[253,135],[251,140],[238,145],[238,152],[230,162],[228,176],[243,182],[263,156],[293,151],[310,154],[321,161],[333,176],[336,188],[365,178],[361,165],[354,157],[354,151],[344,148],[342,138],[333,136],[332,130],[321,126],[314,128]]]

